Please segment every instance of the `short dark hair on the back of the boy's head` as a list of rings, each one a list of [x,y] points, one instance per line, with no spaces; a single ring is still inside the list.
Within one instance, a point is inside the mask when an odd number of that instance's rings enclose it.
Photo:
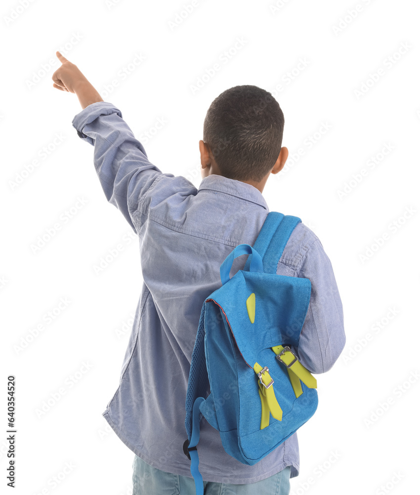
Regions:
[[[282,147],[284,115],[268,91],[234,86],[214,99],[204,120],[203,141],[221,175],[260,182]]]

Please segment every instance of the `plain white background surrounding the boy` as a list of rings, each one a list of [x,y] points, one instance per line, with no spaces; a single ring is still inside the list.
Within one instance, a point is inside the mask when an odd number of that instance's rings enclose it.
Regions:
[[[11,490],[5,398],[12,374],[13,493],[131,494],[134,454],[101,413],[119,384],[140,295],[138,240],[127,237],[126,220],[107,203],[93,147],[71,125],[81,111],[77,97],[52,86],[58,49],[122,111],[138,139],[154,133],[142,138],[152,163],[196,187],[198,142],[211,101],[241,84],[273,93],[285,114],[290,159],[263,195],[270,210],[299,216],[322,241],[347,336],[333,369],[317,375],[319,407],[299,431],[300,475],[291,480],[291,493],[415,493],[418,4],[198,0],[188,15],[184,5],[191,1],[1,4],[0,490]],[[245,43],[235,50],[241,38]],[[145,58],[130,66],[136,56]],[[215,63],[220,70],[194,91]],[[123,79],[125,67],[133,70]],[[110,87],[113,80],[118,85]],[[158,118],[167,123],[155,132]],[[317,134],[323,123],[330,129]],[[381,154],[385,145],[387,155]],[[44,147],[48,154],[40,155]],[[299,148],[303,154],[293,160]],[[35,159],[38,166],[28,172]],[[75,209],[78,198],[85,204]],[[57,222],[61,229],[34,250],[38,236]],[[118,244],[124,249],[95,273],[94,265]],[[60,298],[71,302],[45,324]],[[65,393],[54,403],[60,388]],[[53,405],[40,414],[48,400]],[[63,475],[66,463],[74,467]],[[60,479],[55,487],[54,476]]]

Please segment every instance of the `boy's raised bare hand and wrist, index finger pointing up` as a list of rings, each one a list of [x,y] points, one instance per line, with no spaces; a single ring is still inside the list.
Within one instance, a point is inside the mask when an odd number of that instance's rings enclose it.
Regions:
[[[54,88],[68,93],[75,93],[82,108],[86,108],[91,103],[103,101],[99,93],[74,63],[67,60],[59,51],[56,51],[55,54],[62,65],[52,75]]]

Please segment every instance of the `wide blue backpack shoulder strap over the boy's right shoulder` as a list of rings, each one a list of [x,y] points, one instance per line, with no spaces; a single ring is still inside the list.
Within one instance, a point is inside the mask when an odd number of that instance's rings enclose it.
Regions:
[[[284,215],[277,211],[268,213],[253,245],[262,258],[265,273],[276,273],[283,250],[299,222],[300,218],[293,215]],[[248,256],[244,270],[249,271],[250,264],[251,259]]]

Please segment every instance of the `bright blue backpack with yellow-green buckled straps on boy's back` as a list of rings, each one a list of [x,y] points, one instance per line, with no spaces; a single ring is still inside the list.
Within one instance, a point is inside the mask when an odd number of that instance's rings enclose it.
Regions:
[[[311,282],[276,274],[300,221],[269,212],[254,247],[240,244],[223,261],[222,286],[203,303],[188,380],[188,440],[183,446],[197,495],[204,490],[197,451],[203,416],[219,431],[228,454],[253,465],[293,435],[317,408],[316,379],[291,348],[298,348]],[[251,256],[244,270],[230,279],[233,260],[242,254]]]

